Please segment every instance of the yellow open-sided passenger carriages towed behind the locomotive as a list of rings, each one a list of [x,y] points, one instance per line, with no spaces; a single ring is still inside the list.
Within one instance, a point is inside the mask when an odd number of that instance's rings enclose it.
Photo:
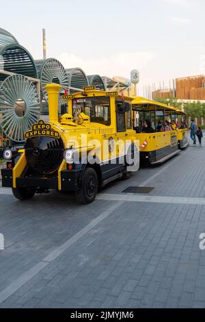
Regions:
[[[136,127],[137,138],[140,143],[140,160],[141,164],[159,164],[163,163],[169,158],[175,156],[179,149],[187,147],[187,133],[188,129],[185,128],[184,113],[176,108],[172,108],[163,103],[151,101],[143,97],[133,99],[133,118],[136,118],[138,112],[139,121]],[[178,116],[181,116],[180,127],[169,130],[169,126],[176,123]],[[141,132],[143,122],[148,119],[152,124],[153,133]],[[169,122],[165,128],[165,123]],[[161,127],[162,128],[161,128]]]

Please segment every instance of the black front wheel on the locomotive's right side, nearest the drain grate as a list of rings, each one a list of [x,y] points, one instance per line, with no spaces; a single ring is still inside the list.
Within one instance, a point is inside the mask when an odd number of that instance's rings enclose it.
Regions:
[[[98,193],[98,175],[92,168],[86,168],[83,173],[81,188],[76,192],[79,203],[88,204],[94,201]]]

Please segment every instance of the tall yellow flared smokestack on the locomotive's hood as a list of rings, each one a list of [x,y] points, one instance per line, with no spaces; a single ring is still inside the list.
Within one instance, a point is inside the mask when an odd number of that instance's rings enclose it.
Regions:
[[[44,86],[48,92],[49,97],[49,122],[59,123],[58,122],[58,104],[59,104],[59,92],[61,86],[58,84],[48,84]]]

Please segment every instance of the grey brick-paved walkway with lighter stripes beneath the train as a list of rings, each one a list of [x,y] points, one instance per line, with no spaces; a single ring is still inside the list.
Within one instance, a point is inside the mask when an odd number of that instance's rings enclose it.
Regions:
[[[89,206],[0,188],[0,308],[205,308],[204,158],[189,147]]]

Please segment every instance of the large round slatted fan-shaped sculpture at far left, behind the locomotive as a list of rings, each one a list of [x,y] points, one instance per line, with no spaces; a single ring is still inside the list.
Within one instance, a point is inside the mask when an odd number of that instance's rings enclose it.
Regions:
[[[36,86],[23,75],[12,75],[1,83],[0,93],[3,132],[11,140],[22,142],[24,133],[40,117]]]

